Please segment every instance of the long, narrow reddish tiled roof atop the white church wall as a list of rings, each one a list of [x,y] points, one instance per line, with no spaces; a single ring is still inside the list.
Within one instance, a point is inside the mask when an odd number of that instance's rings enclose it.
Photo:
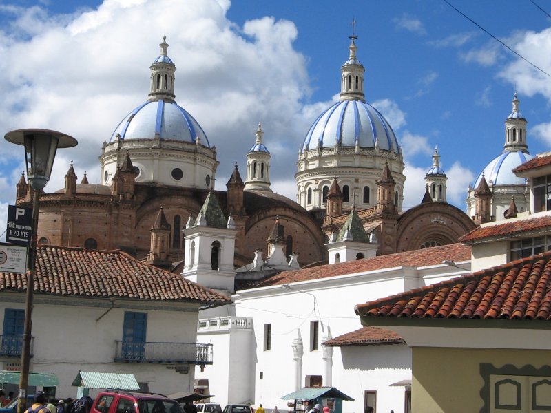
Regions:
[[[299,257],[300,258],[300,257]],[[379,257],[366,258],[341,262],[340,264],[321,265],[312,268],[304,268],[295,271],[282,271],[279,274],[257,284],[258,287],[289,284],[292,282],[309,281],[311,279],[335,277],[365,271],[375,271],[382,268],[394,268],[399,266],[430,266],[441,264],[444,260],[455,262],[470,260],[470,246],[463,244],[449,244],[424,248],[404,253],[380,255]]]

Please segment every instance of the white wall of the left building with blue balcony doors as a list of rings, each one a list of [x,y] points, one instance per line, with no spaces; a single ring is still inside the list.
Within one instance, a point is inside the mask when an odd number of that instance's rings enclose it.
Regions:
[[[25,308],[21,296],[1,296],[0,326],[3,325],[6,308]],[[63,299],[48,299],[48,304],[41,301],[44,300],[35,295],[32,319],[34,345],[30,370],[57,374],[60,384],[56,396],[76,396],[76,387],[72,387],[71,383],[79,370],[132,373],[138,382],[148,383],[152,392],[169,394],[193,391],[194,365],[189,366],[187,374],[180,374],[175,368],[181,365],[115,363],[114,357],[115,341],[123,338],[125,311],[147,313],[147,342],[196,343],[196,310],[181,304],[174,304],[174,310],[155,310],[154,306],[144,307],[137,301],[127,300],[116,301],[112,310],[109,310],[111,305],[107,304],[107,299],[72,300],[74,305],[70,306],[63,305]],[[104,306],[92,307],[94,304]],[[19,363],[20,359],[0,359],[0,365],[7,362]],[[97,390],[90,393],[94,396]]]

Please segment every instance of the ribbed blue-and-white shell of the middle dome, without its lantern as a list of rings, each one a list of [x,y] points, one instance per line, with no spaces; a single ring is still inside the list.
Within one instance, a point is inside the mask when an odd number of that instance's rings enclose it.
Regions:
[[[399,153],[391,125],[375,107],[363,100],[341,100],[323,112],[311,126],[303,150],[335,147],[375,148]]]

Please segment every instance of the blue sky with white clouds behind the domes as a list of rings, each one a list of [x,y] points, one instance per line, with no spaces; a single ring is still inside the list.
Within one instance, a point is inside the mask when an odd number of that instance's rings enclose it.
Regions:
[[[551,19],[530,0],[449,0],[551,73]],[[551,3],[536,0],[551,12]],[[551,143],[551,78],[508,52],[443,0],[106,0],[0,3],[0,125],[63,131],[45,191],[98,182],[98,156],[118,122],[149,92],[164,34],[176,63],[176,100],[218,148],[217,189],[233,163],[245,173],[258,120],[272,154],[272,186],[294,199],[298,146],[340,92],[355,19],[365,94],[386,116],[406,160],[404,207],[420,202],[435,145],[448,201],[503,149],[514,90],[530,153]],[[0,141],[0,232],[21,176],[20,147]],[[0,237],[2,240],[3,237]]]

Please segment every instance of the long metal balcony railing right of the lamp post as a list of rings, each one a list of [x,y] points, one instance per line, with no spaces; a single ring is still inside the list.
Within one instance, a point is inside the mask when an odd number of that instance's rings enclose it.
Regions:
[[[212,344],[116,342],[115,361],[129,363],[212,364]]]

